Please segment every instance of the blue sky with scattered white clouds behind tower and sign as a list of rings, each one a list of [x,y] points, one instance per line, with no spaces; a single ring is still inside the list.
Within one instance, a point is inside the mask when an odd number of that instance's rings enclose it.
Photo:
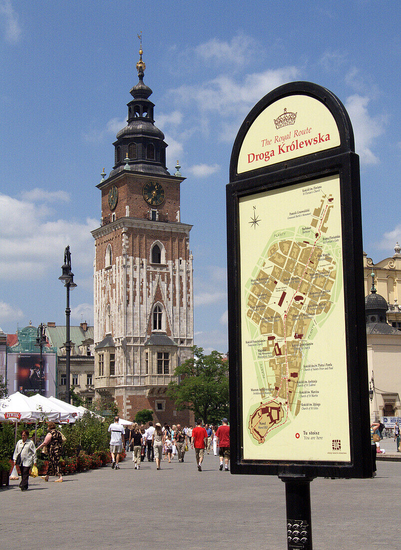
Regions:
[[[161,9],[163,8],[163,9]],[[193,224],[194,343],[227,351],[226,199],[233,141],[290,81],[344,103],[360,156],[363,245],[401,242],[398,3],[0,0],[0,327],[65,324],[58,280],[71,249],[71,324],[93,324],[91,230],[103,167],[126,125],[142,31],[155,125],[177,159]]]

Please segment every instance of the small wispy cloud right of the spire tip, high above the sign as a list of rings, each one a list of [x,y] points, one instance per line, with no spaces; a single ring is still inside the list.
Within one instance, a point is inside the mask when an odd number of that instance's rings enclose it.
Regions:
[[[230,62],[242,67],[247,62],[246,52],[252,48],[253,42],[250,36],[244,34],[234,36],[230,42],[211,38],[208,42],[199,44],[195,52],[205,61]]]

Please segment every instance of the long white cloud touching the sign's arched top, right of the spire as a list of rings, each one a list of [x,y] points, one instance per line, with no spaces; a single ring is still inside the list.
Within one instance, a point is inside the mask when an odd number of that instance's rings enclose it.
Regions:
[[[294,80],[296,67],[253,73],[236,82],[231,76],[220,75],[198,86],[181,86],[174,91],[182,101],[194,101],[200,111],[217,111],[231,117],[248,111],[261,97],[277,86]]]

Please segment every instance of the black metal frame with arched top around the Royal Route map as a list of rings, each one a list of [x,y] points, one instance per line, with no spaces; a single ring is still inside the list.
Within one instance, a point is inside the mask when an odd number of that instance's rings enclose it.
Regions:
[[[340,144],[332,149],[238,174],[238,156],[250,125],[266,107],[291,95],[307,95],[323,103],[335,119]],[[291,189],[293,185],[330,175],[339,176],[341,194],[350,461],[244,460],[239,200],[261,191]],[[316,84],[297,82],[280,86],[261,99],[244,120],[233,145],[226,200],[231,472],[308,478],[371,477],[359,157],[354,152],[352,125],[338,98]]]

